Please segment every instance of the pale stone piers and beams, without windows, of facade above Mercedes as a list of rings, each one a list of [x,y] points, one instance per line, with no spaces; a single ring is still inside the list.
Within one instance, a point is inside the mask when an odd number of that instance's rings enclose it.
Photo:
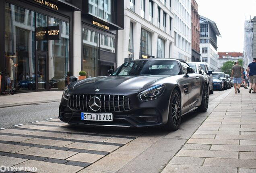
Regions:
[[[160,28],[157,27],[157,16],[158,16],[157,7],[158,6],[161,8]],[[172,27],[171,33],[169,29],[170,17],[172,18],[174,23],[174,15],[171,10],[169,7],[169,2],[168,3],[166,2],[166,5],[164,5],[164,0],[153,0],[153,23],[151,23],[149,22],[149,0],[145,0],[145,18],[143,18],[140,15],[141,14],[140,0],[135,0],[135,12],[130,10],[130,1],[126,1],[126,0],[124,1],[124,30],[118,30],[118,51],[117,51],[118,66],[124,63],[124,58],[128,57],[130,22],[133,23],[133,52],[134,52],[133,57],[134,59],[139,59],[141,28],[151,33],[151,48],[152,48],[151,55],[152,56],[157,57],[157,38],[159,37],[165,40],[165,46],[164,46],[165,58],[174,57],[173,56],[173,50],[174,50],[173,25],[171,25]],[[163,11],[166,13],[166,31],[164,31],[164,27],[163,27]]]

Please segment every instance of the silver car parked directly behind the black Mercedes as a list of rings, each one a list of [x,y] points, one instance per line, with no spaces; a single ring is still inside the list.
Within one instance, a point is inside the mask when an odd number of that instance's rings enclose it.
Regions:
[[[213,77],[210,76],[212,74],[212,71],[210,71],[209,74],[207,74],[204,71],[204,69],[202,69],[202,66],[204,66],[204,64],[200,64],[200,62],[187,62],[187,63],[190,67],[194,68],[196,73],[202,74],[204,76],[204,78],[206,78],[209,93],[213,94]],[[206,68],[206,67],[204,67],[204,68]]]

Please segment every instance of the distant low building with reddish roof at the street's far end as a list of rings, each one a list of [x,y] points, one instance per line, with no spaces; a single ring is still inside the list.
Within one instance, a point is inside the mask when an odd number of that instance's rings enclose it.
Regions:
[[[242,52],[218,52],[218,56],[218,71],[221,71],[223,64],[229,60],[235,61],[243,59]]]

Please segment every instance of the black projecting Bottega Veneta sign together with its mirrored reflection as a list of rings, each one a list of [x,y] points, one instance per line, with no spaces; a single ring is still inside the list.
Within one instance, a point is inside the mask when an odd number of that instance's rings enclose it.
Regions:
[[[37,27],[35,37],[40,40],[60,40],[60,26]]]

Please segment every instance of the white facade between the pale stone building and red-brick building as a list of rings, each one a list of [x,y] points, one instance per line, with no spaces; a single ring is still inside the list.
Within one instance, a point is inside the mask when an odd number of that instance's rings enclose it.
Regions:
[[[191,0],[173,0],[173,57],[191,61]]]

